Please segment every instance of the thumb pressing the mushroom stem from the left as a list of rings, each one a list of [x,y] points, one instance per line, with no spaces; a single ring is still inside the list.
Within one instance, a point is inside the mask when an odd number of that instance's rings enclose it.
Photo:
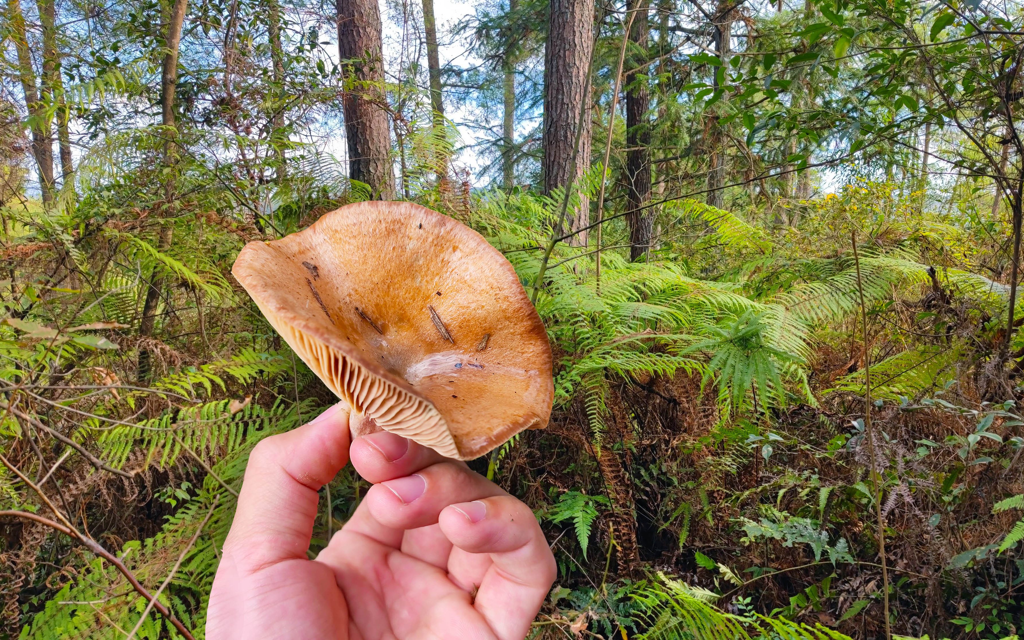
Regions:
[[[241,571],[306,557],[317,492],[348,462],[348,408],[338,403],[253,449],[224,543]]]

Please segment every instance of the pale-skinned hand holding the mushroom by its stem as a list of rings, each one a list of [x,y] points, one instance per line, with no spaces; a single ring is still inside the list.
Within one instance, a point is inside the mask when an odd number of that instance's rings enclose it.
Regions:
[[[397,435],[349,442],[342,406],[261,441],[210,595],[208,640],[518,640],[555,579],[529,508]],[[373,487],[315,560],[317,490]]]

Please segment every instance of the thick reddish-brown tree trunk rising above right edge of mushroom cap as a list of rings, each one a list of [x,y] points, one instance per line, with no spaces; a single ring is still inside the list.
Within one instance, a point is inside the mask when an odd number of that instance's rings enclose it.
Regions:
[[[544,47],[544,193],[551,194],[569,181],[573,143],[581,110],[586,105],[580,138],[577,175],[590,166],[590,95],[585,95],[593,48],[594,3],[591,0],[551,0],[548,9],[548,40]],[[590,203],[579,189],[580,207],[570,215],[570,231],[590,224]],[[587,232],[569,239],[586,246]]]

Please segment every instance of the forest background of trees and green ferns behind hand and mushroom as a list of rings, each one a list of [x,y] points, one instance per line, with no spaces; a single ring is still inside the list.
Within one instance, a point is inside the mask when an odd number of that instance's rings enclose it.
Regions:
[[[531,637],[1016,638],[1024,6],[457,6],[0,7],[0,638],[205,637],[250,452],[337,401],[231,264],[369,200],[547,329],[550,425],[469,463]]]

